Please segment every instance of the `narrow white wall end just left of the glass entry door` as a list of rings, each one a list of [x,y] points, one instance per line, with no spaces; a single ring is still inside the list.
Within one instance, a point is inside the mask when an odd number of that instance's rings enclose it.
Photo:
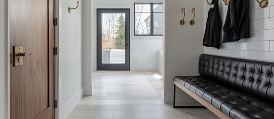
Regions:
[[[82,1],[82,81],[84,95],[92,95],[92,1]]]

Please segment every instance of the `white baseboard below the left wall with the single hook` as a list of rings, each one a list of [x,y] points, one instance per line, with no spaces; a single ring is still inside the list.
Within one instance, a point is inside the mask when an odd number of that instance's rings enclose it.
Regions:
[[[83,97],[83,88],[81,88],[75,96],[64,106],[60,109],[60,118],[59,119],[67,119],[69,114],[75,108],[75,106],[79,103],[81,98]]]

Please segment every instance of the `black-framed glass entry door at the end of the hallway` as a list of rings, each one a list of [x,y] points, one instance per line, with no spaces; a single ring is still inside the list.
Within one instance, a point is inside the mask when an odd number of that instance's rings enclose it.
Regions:
[[[97,9],[97,70],[130,70],[129,12]]]

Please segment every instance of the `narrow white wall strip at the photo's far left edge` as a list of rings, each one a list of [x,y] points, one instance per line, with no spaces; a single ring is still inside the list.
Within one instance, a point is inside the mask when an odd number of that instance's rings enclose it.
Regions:
[[[6,88],[7,88],[7,0],[1,0],[0,4],[0,119],[6,119]]]

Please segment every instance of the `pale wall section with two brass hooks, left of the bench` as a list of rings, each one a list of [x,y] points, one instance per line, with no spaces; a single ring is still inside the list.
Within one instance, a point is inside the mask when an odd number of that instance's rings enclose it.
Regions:
[[[164,102],[173,100],[173,79],[178,75],[199,75],[199,57],[203,54],[203,1],[202,0],[164,0]],[[179,21],[183,18],[182,8],[186,8],[185,25]],[[189,24],[193,19],[192,8],[196,8],[195,25]],[[178,102],[194,102],[190,96],[181,91]]]

